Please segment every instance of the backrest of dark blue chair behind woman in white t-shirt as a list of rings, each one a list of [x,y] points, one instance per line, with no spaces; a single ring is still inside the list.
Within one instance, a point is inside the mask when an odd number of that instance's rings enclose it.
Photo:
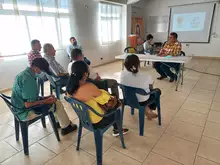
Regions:
[[[119,86],[122,89],[125,105],[129,105],[132,108],[139,108],[140,105],[136,94],[147,95],[145,90],[140,88],[129,87],[122,84],[119,84]]]

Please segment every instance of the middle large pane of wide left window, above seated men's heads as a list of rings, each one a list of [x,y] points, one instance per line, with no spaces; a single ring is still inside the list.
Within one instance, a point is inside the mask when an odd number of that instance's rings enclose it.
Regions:
[[[39,39],[41,43],[52,43],[58,48],[58,35],[54,17],[28,16],[31,39]]]

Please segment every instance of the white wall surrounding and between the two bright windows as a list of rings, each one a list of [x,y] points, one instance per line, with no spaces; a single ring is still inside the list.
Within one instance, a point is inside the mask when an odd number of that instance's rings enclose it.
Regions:
[[[113,61],[116,55],[123,53],[127,38],[126,7],[123,7],[123,39],[112,45],[101,46],[98,33],[99,2],[74,0],[72,6],[73,13],[70,18],[72,36],[75,36],[83,46],[84,54],[91,60],[92,65]],[[67,68],[68,58],[65,51],[57,51],[56,58]],[[27,56],[10,60],[0,59],[0,90],[11,88],[15,76],[26,68],[27,64]]]

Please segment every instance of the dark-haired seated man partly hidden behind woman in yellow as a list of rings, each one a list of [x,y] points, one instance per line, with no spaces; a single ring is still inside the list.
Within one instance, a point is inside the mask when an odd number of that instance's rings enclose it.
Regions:
[[[73,49],[71,52],[71,62],[68,65],[68,72],[71,74],[71,68],[72,64],[75,61],[83,61],[83,55],[82,51],[80,49]],[[95,70],[91,67],[89,67],[90,75],[89,80],[93,84],[95,84],[99,89],[105,89],[105,81],[107,81],[107,87],[111,88],[112,95],[116,96],[117,99],[119,99],[119,92],[118,92],[118,83],[114,79],[104,79],[103,81],[99,74],[95,72]]]

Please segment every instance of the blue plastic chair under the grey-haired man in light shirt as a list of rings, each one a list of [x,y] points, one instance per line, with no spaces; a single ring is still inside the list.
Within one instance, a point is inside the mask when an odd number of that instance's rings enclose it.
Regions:
[[[50,94],[53,94],[53,89],[55,89],[56,97],[57,99],[60,99],[60,95],[62,93],[65,93],[65,91],[62,90],[63,87],[66,86],[68,81],[68,76],[56,76],[53,72],[51,72],[52,75],[46,74],[47,79],[50,82]]]

